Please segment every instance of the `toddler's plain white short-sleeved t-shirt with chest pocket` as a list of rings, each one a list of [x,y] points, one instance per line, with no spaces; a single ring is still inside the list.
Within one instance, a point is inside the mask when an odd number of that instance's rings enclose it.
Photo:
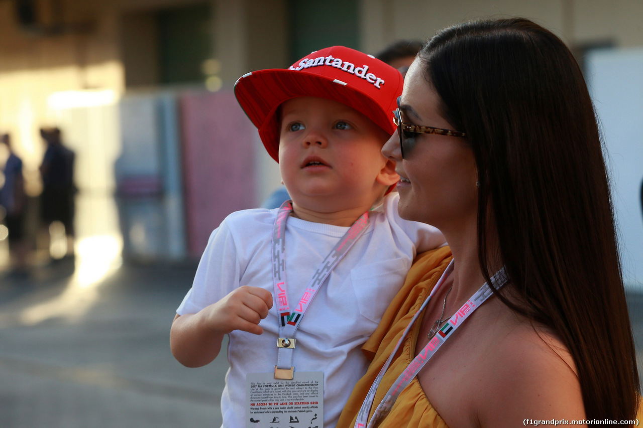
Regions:
[[[415,254],[445,245],[435,227],[400,218],[398,199],[397,193],[387,195],[370,211],[367,230],[318,289],[295,333],[294,370],[324,373],[326,428],[335,427],[353,387],[366,373],[368,361],[360,348],[402,286]],[[271,240],[277,211],[237,211],[213,231],[177,314],[195,314],[241,285],[274,294]],[[288,218],[284,256],[289,301],[299,301],[312,274],[348,229]],[[259,325],[262,335],[230,333],[223,427],[245,426],[246,373],[275,369],[276,305]]]

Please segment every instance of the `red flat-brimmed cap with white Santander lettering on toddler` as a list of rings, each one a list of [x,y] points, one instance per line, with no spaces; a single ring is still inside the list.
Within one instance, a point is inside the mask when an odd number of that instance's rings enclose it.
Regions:
[[[395,133],[391,112],[397,108],[404,79],[399,71],[372,55],[344,46],[314,51],[287,69],[243,75],[235,96],[259,130],[268,154],[279,161],[277,107],[298,96],[334,100],[361,112],[387,134]]]

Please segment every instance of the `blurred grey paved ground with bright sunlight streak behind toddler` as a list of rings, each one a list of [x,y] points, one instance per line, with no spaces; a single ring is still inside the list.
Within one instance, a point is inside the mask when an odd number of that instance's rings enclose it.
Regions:
[[[219,427],[225,356],[188,369],[168,346],[195,265],[76,268],[0,279],[0,428]],[[629,303],[643,374],[643,295]]]

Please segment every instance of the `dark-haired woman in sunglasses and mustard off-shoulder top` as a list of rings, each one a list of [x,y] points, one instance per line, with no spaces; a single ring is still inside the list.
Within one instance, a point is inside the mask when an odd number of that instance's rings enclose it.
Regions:
[[[338,427],[633,420],[608,177],[565,44],[520,18],[447,28],[418,54],[394,114],[383,152],[401,176],[399,213],[439,227],[453,263],[444,249],[416,262]]]

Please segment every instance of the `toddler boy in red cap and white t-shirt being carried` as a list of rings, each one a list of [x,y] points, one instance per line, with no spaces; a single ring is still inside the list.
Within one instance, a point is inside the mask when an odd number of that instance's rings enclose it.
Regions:
[[[211,362],[230,336],[224,427],[334,427],[368,366],[360,347],[415,254],[444,245],[435,227],[399,217],[397,194],[385,196],[399,179],[381,148],[402,83],[384,62],[334,46],[235,84],[292,202],[232,213],[213,231],[172,325],[186,366]],[[314,412],[251,413],[246,391],[258,379],[294,396],[289,379],[323,379],[323,424]]]

